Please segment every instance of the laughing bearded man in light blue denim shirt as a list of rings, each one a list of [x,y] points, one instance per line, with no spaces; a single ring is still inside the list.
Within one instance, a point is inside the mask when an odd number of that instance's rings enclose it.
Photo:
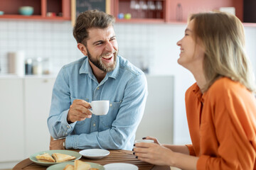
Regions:
[[[53,87],[50,149],[132,149],[147,96],[144,73],[117,55],[114,17],[97,10],[78,16],[73,35],[85,57],[65,65]],[[107,115],[91,101],[109,100]]]

